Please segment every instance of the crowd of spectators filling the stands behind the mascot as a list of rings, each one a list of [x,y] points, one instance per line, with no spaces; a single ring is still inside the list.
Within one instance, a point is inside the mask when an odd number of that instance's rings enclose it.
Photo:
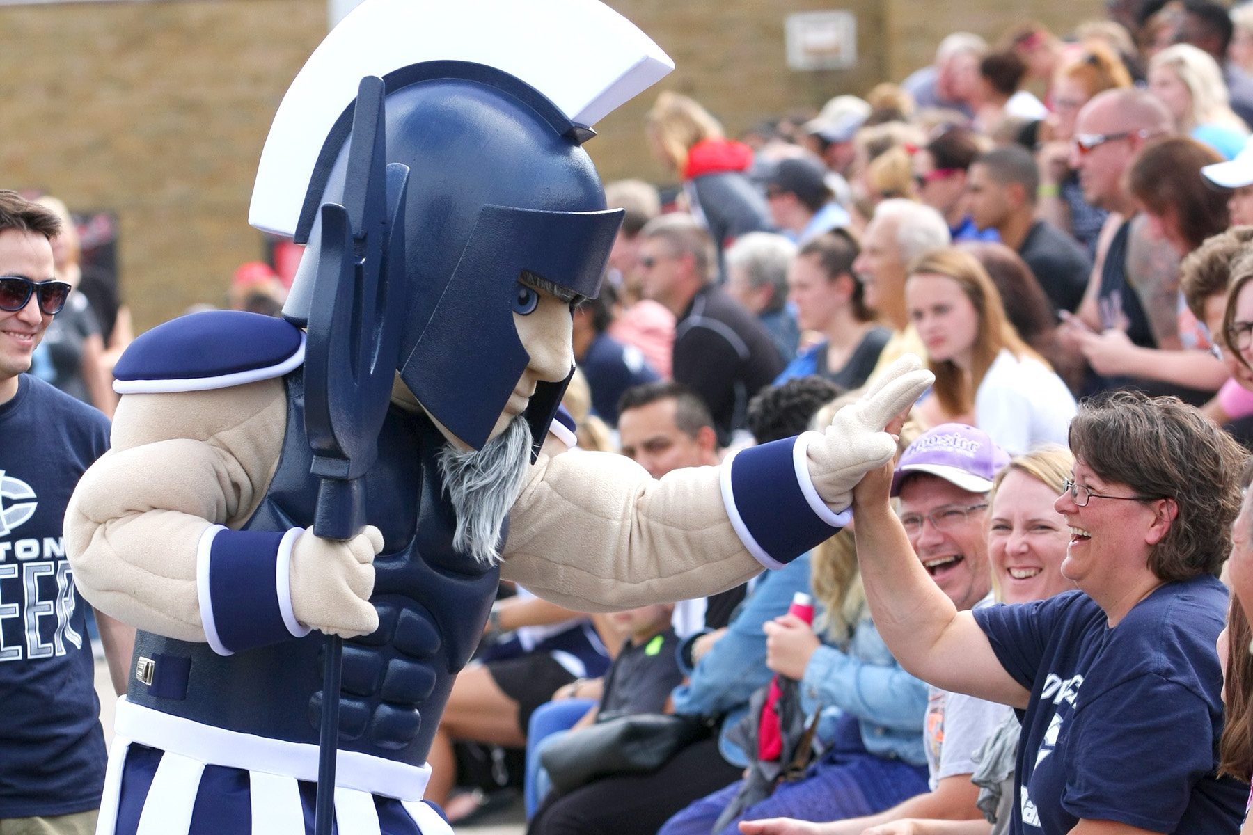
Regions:
[[[786,568],[610,616],[497,601],[430,756],[454,822],[512,780],[534,835],[1253,832],[1253,4],[1106,5],[954,33],[743,141],[657,98],[673,182],[606,187],[625,222],[574,305],[580,446],[665,478],[821,428],[907,352],[936,382],[853,525]],[[282,294],[247,264],[231,303]],[[73,309],[49,373],[110,411]],[[781,679],[804,734],[763,767]],[[553,787],[546,750],[638,712],[705,734]]]

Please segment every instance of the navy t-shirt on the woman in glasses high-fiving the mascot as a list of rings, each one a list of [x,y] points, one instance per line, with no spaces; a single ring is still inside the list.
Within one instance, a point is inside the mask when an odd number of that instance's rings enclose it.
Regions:
[[[1011,831],[1065,835],[1080,817],[1154,832],[1230,832],[1248,784],[1218,780],[1227,590],[1167,583],[1109,628],[1083,592],[974,612],[1005,670],[1031,691]]]

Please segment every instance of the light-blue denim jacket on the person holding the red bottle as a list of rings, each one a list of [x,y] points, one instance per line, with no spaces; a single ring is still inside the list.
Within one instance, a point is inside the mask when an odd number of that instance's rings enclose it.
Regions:
[[[857,623],[845,651],[824,643],[809,656],[801,679],[801,706],[812,715],[819,705],[819,741],[829,742],[836,721],[851,714],[861,721],[867,751],[926,765],[927,686],[901,669],[868,616]]]

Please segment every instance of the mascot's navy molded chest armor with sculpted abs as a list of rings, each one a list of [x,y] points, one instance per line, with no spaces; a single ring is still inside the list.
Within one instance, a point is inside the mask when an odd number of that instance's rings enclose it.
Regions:
[[[317,482],[303,431],[301,371],[287,376],[282,458],[246,528],[286,531],[312,523]],[[456,670],[482,635],[499,570],[452,548],[454,516],[436,454],[444,437],[422,414],[393,407],[378,462],[366,476],[368,522],[385,538],[375,558],[378,630],[343,647],[340,747],[422,765]],[[188,660],[185,684],[157,690],[132,680],[127,697],[217,727],[317,744],[326,638],[313,632],[232,656],[205,643],[140,632],[138,657],[154,669]],[[185,663],[185,662],[183,662]],[[188,686],[189,685],[189,686]],[[163,697],[157,692],[165,692]],[[425,720],[425,721],[424,721]]]

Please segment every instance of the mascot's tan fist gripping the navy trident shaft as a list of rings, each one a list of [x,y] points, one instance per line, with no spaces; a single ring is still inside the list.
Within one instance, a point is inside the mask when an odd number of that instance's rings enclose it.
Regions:
[[[292,546],[292,613],[301,623],[340,637],[378,628],[370,603],[375,556],[383,535],[372,525],[351,540],[326,540],[304,531]]]

